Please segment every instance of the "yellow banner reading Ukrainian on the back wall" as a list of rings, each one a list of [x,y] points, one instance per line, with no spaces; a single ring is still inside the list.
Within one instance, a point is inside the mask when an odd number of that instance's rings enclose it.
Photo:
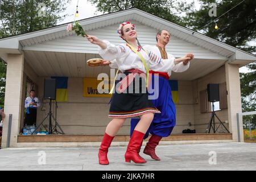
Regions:
[[[84,78],[84,97],[112,97],[112,94],[109,94],[110,89],[109,80]]]

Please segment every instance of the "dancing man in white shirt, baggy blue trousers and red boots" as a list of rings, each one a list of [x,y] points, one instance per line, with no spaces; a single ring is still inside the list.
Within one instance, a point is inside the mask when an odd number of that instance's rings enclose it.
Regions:
[[[162,57],[162,59],[175,60],[173,55],[166,52],[166,45],[169,43],[169,41],[170,33],[166,30],[162,30],[156,34],[156,46],[144,46],[143,48],[146,48],[155,55]],[[172,100],[171,86],[168,80],[172,71],[184,72],[189,68],[189,61],[192,60],[194,56],[192,53],[188,53],[185,57],[189,57],[190,59],[184,60],[179,64],[175,64],[174,67],[168,70],[168,72],[165,72],[164,70],[159,72],[159,70],[156,71],[154,69],[151,69],[150,71],[152,74],[152,86],[150,88],[154,88],[154,90],[158,89],[159,92],[159,97],[156,98],[156,100],[152,100],[152,102],[154,106],[161,111],[161,113],[154,115],[151,126],[144,136],[144,139],[146,139],[148,137],[148,133],[151,134],[143,153],[150,155],[151,158],[155,160],[160,160],[160,158],[155,154],[156,146],[158,146],[163,137],[168,137],[171,135],[172,130],[176,125],[176,109],[174,101]],[[159,88],[156,88],[156,85],[154,85],[154,77],[158,77],[159,79]],[[138,119],[131,119],[131,135],[133,134],[137,123]],[[140,149],[141,147],[138,149],[138,153],[140,152]]]

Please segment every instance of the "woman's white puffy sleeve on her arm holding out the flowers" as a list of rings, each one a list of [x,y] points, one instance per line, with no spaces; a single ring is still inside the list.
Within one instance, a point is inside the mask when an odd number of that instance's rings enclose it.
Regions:
[[[126,57],[129,55],[130,49],[125,44],[120,44],[118,46],[115,46],[114,44],[111,44],[107,40],[103,40],[104,43],[106,43],[106,48],[99,49],[100,56],[105,60],[114,60],[118,59],[118,61],[124,60],[120,59],[121,57]]]

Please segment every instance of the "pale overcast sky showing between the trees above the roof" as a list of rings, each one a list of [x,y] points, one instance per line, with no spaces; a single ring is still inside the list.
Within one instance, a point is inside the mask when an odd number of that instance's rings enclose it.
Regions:
[[[197,0],[182,0],[186,2],[193,2],[195,1],[195,8],[200,9],[200,3]],[[67,7],[67,10],[63,14],[68,14],[63,21],[59,22],[58,24],[64,24],[68,22],[73,22],[75,18],[75,13],[76,13],[76,5],[77,5],[77,0],[72,0],[70,5]],[[90,2],[86,0],[80,0],[79,1],[79,17],[76,18],[76,20],[81,20],[85,18],[90,18],[93,16],[101,15],[102,13],[96,11],[96,6],[92,5]],[[251,46],[256,46],[256,42],[250,42],[249,43]],[[246,67],[242,67],[239,69],[241,73],[247,73],[250,72],[249,69]]]

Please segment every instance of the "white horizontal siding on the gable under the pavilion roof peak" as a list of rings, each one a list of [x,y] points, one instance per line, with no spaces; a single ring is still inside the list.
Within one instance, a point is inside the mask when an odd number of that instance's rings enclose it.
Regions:
[[[131,20],[135,23],[138,39],[142,45],[152,45],[156,44],[156,33],[158,30],[144,26],[141,23]],[[98,28],[93,31],[88,31],[88,35],[97,36],[100,39],[109,40],[111,43],[123,44],[123,40],[119,38],[117,34],[118,25]],[[226,57],[220,56],[217,53],[208,51],[207,49],[195,46],[191,43],[185,42],[171,34],[171,40],[166,47],[167,52],[172,53],[175,57],[182,57],[188,52],[193,52],[197,59],[220,59],[226,60]],[[56,52],[80,52],[80,53],[98,53],[98,46],[90,44],[88,40],[82,38],[81,36],[73,35],[65,38],[59,38],[56,40],[49,40],[40,44],[35,44],[32,46],[26,46],[24,50],[32,51],[56,51]]]

